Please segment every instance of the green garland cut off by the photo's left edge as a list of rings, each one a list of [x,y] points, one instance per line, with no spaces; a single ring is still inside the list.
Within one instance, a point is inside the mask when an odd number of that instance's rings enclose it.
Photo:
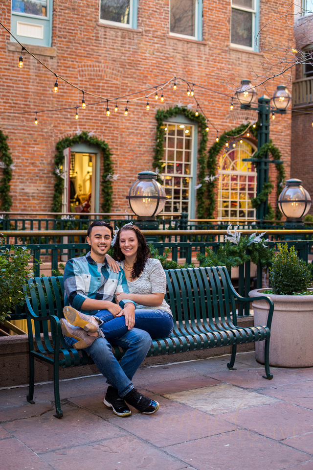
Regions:
[[[10,181],[12,180],[13,160],[6,141],[7,138],[8,136],[5,136],[0,130],[0,168],[3,169],[3,176],[0,180],[0,199],[1,211],[4,212],[9,212],[12,206]]]

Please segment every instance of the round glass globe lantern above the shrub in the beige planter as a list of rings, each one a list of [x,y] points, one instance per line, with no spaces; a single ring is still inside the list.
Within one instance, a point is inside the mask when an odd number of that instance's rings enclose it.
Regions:
[[[291,178],[278,198],[279,210],[287,217],[287,222],[301,222],[311,208],[311,196],[302,186],[302,181]]]

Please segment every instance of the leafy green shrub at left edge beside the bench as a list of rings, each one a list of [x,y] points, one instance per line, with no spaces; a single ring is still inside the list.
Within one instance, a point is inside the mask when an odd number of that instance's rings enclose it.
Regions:
[[[1,237],[1,234],[0,234]],[[5,321],[15,306],[24,304],[25,293],[22,286],[33,276],[29,266],[31,254],[25,247],[4,246],[0,238],[0,322]]]

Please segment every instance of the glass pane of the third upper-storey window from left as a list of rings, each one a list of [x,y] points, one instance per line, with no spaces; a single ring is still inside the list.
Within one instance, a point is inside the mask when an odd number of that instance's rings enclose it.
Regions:
[[[195,35],[196,0],[171,0],[171,33]]]

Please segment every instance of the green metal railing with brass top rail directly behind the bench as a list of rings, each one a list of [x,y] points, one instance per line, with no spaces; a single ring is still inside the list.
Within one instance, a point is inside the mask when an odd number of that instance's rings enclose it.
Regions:
[[[257,235],[262,233],[262,230],[243,230],[243,235],[251,235],[257,232]],[[2,232],[5,237],[14,238],[17,235],[16,231]],[[59,262],[66,262],[67,259],[79,256],[81,253],[89,251],[89,245],[86,242],[76,243],[74,239],[76,236],[85,237],[86,231],[41,231],[41,232],[19,232],[22,238],[37,237],[49,239],[67,239],[67,242],[50,242],[50,243],[29,243],[25,246],[31,250],[34,264],[34,275],[40,276],[41,265],[39,260],[44,256],[45,261],[51,263],[51,271],[58,268]],[[143,231],[147,237],[157,236],[160,241],[154,242],[153,246],[157,248],[160,255],[165,253],[166,248],[170,249],[171,259],[183,264],[184,262],[190,264],[196,260],[196,253],[205,253],[206,248],[217,250],[218,246],[224,243],[224,235],[227,234],[226,230],[198,230],[198,231]],[[171,237],[175,237],[176,241],[169,241]],[[280,241],[287,241],[288,245],[294,245],[298,251],[299,256],[306,262],[309,260],[310,248],[313,245],[312,239],[301,239],[301,237],[312,237],[313,230],[268,230],[266,236],[270,239],[268,246],[277,246]],[[163,237],[165,241],[163,241]],[[292,239],[294,238],[294,239]],[[6,245],[9,246],[9,245]],[[61,259],[62,258],[62,259]],[[235,287],[239,294],[247,296],[251,287],[261,288],[263,286],[263,270],[261,266],[257,266],[257,272],[254,279],[251,279],[251,265],[247,261],[245,264],[239,266],[238,274],[233,279]],[[248,315],[249,311],[240,311],[239,314]],[[20,316],[19,316],[20,315]],[[21,313],[17,313],[15,318],[23,318]]]

